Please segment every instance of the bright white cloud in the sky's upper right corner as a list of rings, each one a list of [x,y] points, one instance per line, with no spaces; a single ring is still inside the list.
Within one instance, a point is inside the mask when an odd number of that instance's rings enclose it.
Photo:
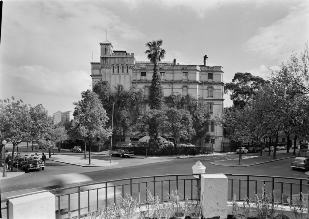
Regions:
[[[290,8],[289,14],[271,26],[260,27],[243,47],[265,59],[286,60],[292,51],[300,52],[309,36],[309,4],[304,2]],[[297,39],[297,40],[295,40]]]

